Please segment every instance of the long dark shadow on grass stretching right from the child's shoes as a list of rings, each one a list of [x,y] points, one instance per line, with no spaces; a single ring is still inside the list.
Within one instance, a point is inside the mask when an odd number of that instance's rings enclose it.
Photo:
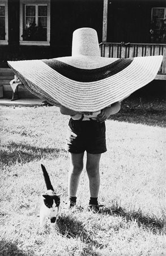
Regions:
[[[127,212],[117,204],[113,204],[110,208],[100,209],[99,213],[109,214],[112,216],[121,216],[124,217],[126,221],[136,221],[138,226],[143,226],[154,234],[158,232],[165,232],[166,220],[164,220],[164,217],[159,219],[156,216],[148,216],[147,214],[143,214],[140,209],[138,211],[131,210],[130,212]]]

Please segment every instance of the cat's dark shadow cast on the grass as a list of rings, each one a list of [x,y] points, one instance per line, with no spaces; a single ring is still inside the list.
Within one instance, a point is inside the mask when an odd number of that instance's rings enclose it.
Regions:
[[[76,217],[72,216],[61,216],[61,218],[57,221],[58,232],[67,238],[80,238],[81,241],[90,245],[88,247],[88,251],[85,255],[98,255],[95,251],[93,251],[93,246],[96,248],[102,248],[103,243],[99,243],[93,239],[95,234],[92,230],[86,230],[84,228],[83,222],[80,222],[76,219]],[[85,253],[85,252],[84,252]]]

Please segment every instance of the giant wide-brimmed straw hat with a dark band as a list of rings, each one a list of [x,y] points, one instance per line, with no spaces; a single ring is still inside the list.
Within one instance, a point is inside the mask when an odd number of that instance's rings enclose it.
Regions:
[[[154,80],[162,60],[101,57],[96,30],[79,28],[73,33],[72,56],[8,64],[36,96],[78,112],[96,112]]]

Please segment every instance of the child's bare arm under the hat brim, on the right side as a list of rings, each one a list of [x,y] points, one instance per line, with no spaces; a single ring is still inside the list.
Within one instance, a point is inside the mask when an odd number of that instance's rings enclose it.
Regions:
[[[111,106],[102,109],[101,113],[99,115],[97,115],[96,119],[99,122],[104,122],[105,120],[107,120],[109,118],[110,115],[114,115],[116,113],[118,113],[121,109],[121,102],[115,102],[114,104],[112,104]]]

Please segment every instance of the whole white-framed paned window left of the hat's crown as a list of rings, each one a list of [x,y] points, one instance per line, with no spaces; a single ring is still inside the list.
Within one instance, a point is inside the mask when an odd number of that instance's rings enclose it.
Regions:
[[[50,1],[20,2],[20,44],[49,45]]]

